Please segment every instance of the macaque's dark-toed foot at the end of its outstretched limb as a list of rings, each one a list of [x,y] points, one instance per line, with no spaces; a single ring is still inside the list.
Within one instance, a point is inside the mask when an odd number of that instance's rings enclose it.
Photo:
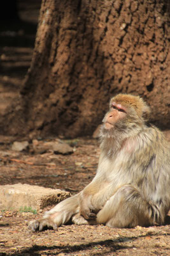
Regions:
[[[32,232],[36,232],[37,230],[42,231],[43,228],[53,228],[53,230],[57,230],[57,225],[50,220],[49,218],[33,220],[29,222],[28,228],[32,230]]]

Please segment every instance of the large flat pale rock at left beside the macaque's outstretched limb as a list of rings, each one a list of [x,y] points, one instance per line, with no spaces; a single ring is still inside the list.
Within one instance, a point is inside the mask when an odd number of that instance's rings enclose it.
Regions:
[[[58,204],[71,196],[71,193],[60,189],[43,188],[29,184],[0,186],[0,210],[4,209],[43,209],[48,205]]]

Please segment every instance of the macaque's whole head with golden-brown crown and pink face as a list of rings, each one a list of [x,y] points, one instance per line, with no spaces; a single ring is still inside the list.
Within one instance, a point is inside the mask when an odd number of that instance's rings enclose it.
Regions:
[[[145,123],[150,108],[139,96],[118,94],[110,100],[110,110],[103,119],[103,129],[130,129],[133,125]]]

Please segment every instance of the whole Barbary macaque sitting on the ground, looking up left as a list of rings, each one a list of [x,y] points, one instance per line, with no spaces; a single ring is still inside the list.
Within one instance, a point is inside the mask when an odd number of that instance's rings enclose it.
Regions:
[[[118,94],[101,128],[97,173],[83,191],[31,221],[32,231],[74,224],[161,225],[170,208],[170,150],[138,96]]]

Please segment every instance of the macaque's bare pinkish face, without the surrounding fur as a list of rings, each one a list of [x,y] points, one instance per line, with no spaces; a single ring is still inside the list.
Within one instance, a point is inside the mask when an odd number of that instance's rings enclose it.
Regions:
[[[111,102],[110,111],[106,113],[103,119],[104,128],[110,130],[115,124],[122,123],[127,116],[127,109],[122,104]]]

